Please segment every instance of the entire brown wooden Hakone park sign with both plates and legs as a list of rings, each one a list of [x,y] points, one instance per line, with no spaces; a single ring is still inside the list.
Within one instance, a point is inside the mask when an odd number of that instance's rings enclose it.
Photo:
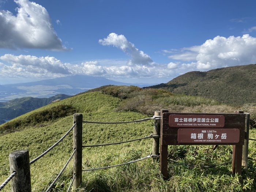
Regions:
[[[232,172],[241,174],[246,115],[237,112],[192,114],[161,110],[160,168],[163,178],[168,178],[168,145],[233,145]]]

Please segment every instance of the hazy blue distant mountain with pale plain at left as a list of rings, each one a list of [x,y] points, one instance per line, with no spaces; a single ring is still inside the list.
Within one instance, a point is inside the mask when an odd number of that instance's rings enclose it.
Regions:
[[[148,86],[141,84],[122,83],[103,77],[74,75],[29,83],[0,85],[0,101],[8,101],[10,99],[21,97],[52,97],[57,94],[75,95],[109,84],[136,85],[140,87]]]

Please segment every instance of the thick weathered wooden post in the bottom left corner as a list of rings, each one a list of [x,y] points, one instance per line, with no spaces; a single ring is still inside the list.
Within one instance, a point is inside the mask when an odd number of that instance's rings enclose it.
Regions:
[[[9,155],[10,173],[17,173],[11,180],[12,192],[31,192],[29,151],[18,150]]]

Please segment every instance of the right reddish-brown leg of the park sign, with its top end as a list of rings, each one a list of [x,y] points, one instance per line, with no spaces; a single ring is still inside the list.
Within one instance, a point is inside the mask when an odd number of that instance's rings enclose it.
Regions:
[[[236,110],[235,113],[244,113]],[[242,145],[233,145],[232,173],[242,174]]]

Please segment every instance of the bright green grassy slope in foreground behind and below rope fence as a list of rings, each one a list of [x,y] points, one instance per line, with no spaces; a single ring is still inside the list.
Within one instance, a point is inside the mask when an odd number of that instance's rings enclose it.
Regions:
[[[108,88],[108,87],[107,87]],[[120,87],[119,87],[120,88]],[[234,108],[225,105],[215,105],[214,101],[205,102],[204,107],[196,105],[200,99],[191,97],[172,95],[164,91],[138,92],[138,88],[122,87],[123,93],[115,90],[101,92],[91,92],[80,94],[75,97],[64,99],[57,103],[44,106],[32,112],[11,120],[10,124],[19,126],[12,129],[14,132],[5,132],[7,124],[0,125],[2,135],[0,135],[0,184],[9,176],[8,155],[15,150],[27,149],[30,153],[30,160],[34,159],[53,143],[61,138],[73,124],[73,112],[83,114],[86,121],[131,121],[145,117],[152,117],[139,112],[139,110],[124,109],[127,101],[134,98],[147,98],[144,103],[160,102],[162,107],[169,103],[169,106],[178,106],[178,110],[204,110],[210,112],[219,110],[220,112],[230,112]],[[108,88],[109,89],[109,88]],[[124,91],[126,90],[126,91]],[[129,91],[130,90],[130,91]],[[111,96],[109,94],[117,93]],[[132,94],[133,93],[133,94]],[[149,94],[150,93],[150,94]],[[158,93],[158,94],[156,94]],[[169,95],[168,95],[169,94]],[[118,97],[119,95],[119,97]],[[125,95],[130,95],[126,97]],[[133,95],[133,96],[131,96]],[[151,95],[151,98],[149,97]],[[161,99],[161,97],[165,98]],[[122,97],[122,98],[121,98]],[[176,98],[174,98],[176,97]],[[172,101],[180,102],[179,105]],[[197,102],[196,102],[197,101]],[[175,103],[174,102],[174,103]],[[181,105],[187,103],[187,106]],[[189,104],[190,103],[190,104]],[[192,103],[194,103],[192,105]],[[210,104],[212,103],[212,104]],[[190,106],[189,106],[190,105]],[[60,111],[60,106],[67,106],[61,111],[67,110],[63,116],[56,116],[54,113]],[[168,106],[168,105],[167,105]],[[184,106],[182,108],[181,106]],[[156,107],[156,106],[155,106]],[[123,109],[122,109],[123,108]],[[161,108],[154,108],[160,110]],[[71,110],[72,109],[72,110]],[[139,109],[139,108],[138,108]],[[74,110],[74,111],[73,111]],[[37,118],[37,123],[26,122],[26,119],[33,119],[40,114],[48,112],[49,118]],[[52,113],[52,116],[49,114]],[[39,127],[44,124],[44,127]],[[250,138],[256,138],[255,129],[250,130]],[[150,135],[153,132],[153,120],[131,124],[83,124],[83,145],[111,143],[129,139],[140,138]],[[132,143],[120,145],[102,146],[97,148],[83,149],[83,169],[116,165],[149,155],[152,151],[152,139],[144,139]],[[249,161],[249,169],[243,169],[242,176],[231,174],[231,165],[222,165],[215,168],[203,168],[202,165],[217,164],[231,159],[231,146],[219,146],[213,151],[212,146],[169,146],[169,157],[200,167],[187,167],[182,164],[169,163],[168,172],[170,179],[164,181],[159,171],[159,163],[153,163],[151,159],[145,159],[133,164],[115,167],[108,170],[97,170],[94,172],[84,172],[82,186],[76,191],[151,191],[151,192],[171,192],[171,191],[253,191],[256,189],[255,181],[255,161]],[[72,153],[72,132],[63,142],[56,146],[43,158],[30,166],[31,184],[33,192],[45,191],[50,183],[64,166]],[[256,142],[249,144],[249,156],[256,158]],[[67,191],[72,179],[72,162],[69,163],[63,175],[57,181],[53,191]],[[10,191],[8,184],[2,191]]]

